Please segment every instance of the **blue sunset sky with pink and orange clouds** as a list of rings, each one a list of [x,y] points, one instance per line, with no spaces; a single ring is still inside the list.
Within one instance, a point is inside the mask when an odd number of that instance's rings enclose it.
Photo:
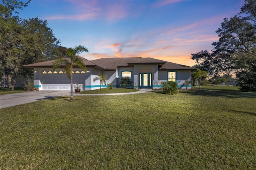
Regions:
[[[212,50],[224,18],[242,0],[32,0],[24,19],[47,20],[65,47],[84,45],[86,59],[152,57],[192,66],[191,53]]]

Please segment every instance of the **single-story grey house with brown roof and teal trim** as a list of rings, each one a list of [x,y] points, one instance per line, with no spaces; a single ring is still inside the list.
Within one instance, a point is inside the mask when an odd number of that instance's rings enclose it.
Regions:
[[[120,87],[123,78],[130,79],[133,85],[138,85],[139,89],[158,89],[162,81],[176,81],[179,88],[186,88],[185,81],[190,81],[191,72],[197,69],[149,57],[102,58],[92,61],[82,58],[82,60],[86,65],[86,71],[83,72],[79,67],[74,66],[73,83],[81,84],[83,90],[100,88],[100,81],[93,82],[94,77],[97,77],[99,73],[105,75],[106,83],[112,83],[113,87]],[[34,83],[39,90],[70,90],[70,79],[64,72],[64,66],[54,71],[53,61],[33,63],[22,67],[34,69]],[[133,88],[133,85],[130,85],[130,88]],[[108,85],[102,87],[108,87]],[[191,88],[191,85],[188,88]]]

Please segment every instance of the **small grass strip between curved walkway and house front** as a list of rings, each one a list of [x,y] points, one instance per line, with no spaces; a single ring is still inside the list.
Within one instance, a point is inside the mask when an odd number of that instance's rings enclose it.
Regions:
[[[130,92],[135,92],[139,91],[138,89],[124,89],[124,88],[102,88],[101,91],[100,89],[97,90],[91,90],[91,91],[81,91],[81,94],[104,94],[104,93],[130,93]]]

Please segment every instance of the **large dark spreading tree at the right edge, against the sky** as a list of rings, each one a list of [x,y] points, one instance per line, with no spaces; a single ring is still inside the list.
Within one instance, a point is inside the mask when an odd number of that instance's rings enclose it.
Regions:
[[[255,84],[256,75],[256,1],[245,0],[241,15],[224,18],[221,27],[216,31],[218,42],[213,42],[212,52],[202,50],[192,53],[192,59],[201,65],[212,76],[236,73],[238,85]],[[244,14],[249,14],[244,16]],[[243,84],[243,85],[242,85]],[[253,86],[252,86],[253,87]],[[248,89],[248,88],[247,88]],[[249,88],[248,90],[256,90]]]

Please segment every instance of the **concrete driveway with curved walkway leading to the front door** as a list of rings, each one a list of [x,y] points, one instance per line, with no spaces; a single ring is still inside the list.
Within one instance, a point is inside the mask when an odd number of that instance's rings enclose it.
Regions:
[[[86,95],[131,95],[138,93],[147,93],[150,92],[151,89],[140,89],[140,91],[131,92],[131,93],[108,93],[108,94],[76,94],[74,96],[86,96]],[[52,97],[58,96],[70,96],[70,91],[68,90],[41,90],[41,91],[29,91],[24,93],[14,93],[9,95],[0,95],[0,109],[22,105],[25,103],[31,103],[35,101],[40,101],[43,99],[50,99]]]

